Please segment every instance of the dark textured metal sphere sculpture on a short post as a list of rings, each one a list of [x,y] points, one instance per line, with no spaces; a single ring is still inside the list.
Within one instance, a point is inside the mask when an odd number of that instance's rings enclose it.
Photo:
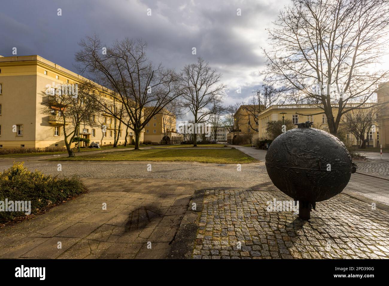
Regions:
[[[315,128],[295,128],[275,138],[266,154],[266,169],[279,190],[311,203],[342,192],[355,172],[345,145]]]

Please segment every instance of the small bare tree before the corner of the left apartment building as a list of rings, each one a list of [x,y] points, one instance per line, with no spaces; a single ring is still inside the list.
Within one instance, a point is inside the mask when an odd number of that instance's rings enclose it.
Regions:
[[[96,126],[96,122],[93,121],[93,115],[98,113],[96,89],[92,84],[84,83],[77,84],[77,95],[62,90],[51,87],[40,93],[43,97],[41,113],[49,115],[49,120],[58,122],[62,127],[69,157],[75,157],[70,146],[80,125]]]

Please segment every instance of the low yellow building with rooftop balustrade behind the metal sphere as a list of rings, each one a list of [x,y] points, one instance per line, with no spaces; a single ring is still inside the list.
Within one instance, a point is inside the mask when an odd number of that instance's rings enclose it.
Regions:
[[[357,105],[356,103],[348,104],[349,107]],[[372,106],[373,103],[366,103],[365,106]],[[284,112],[284,120],[289,119],[293,124],[311,121],[314,122],[312,127],[317,129],[323,129],[328,131],[328,122],[325,114],[318,115],[299,115],[296,113],[302,114],[314,114],[322,112],[322,109],[317,107],[317,105],[309,105],[309,104],[287,104],[287,105],[272,105],[258,115],[258,123],[259,123],[259,140],[269,139],[266,133],[267,123],[272,120],[282,120],[282,113]],[[337,112],[337,108],[333,108],[333,114],[335,116]],[[379,126],[379,125],[378,125]],[[380,126],[379,126],[380,127]],[[369,139],[369,146],[377,147],[377,144],[380,144],[381,139],[381,129],[378,131],[378,127],[376,128],[376,132],[373,133],[371,130],[368,134],[365,134],[365,138]],[[357,145],[357,140],[354,135],[347,134],[347,139],[350,140],[352,145]],[[366,143],[367,145],[367,143]]]

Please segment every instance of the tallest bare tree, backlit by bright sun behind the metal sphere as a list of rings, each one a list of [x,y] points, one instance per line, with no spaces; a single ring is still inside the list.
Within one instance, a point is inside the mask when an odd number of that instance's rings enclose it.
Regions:
[[[266,82],[317,103],[322,112],[301,115],[325,113],[336,135],[342,115],[364,108],[387,80],[375,65],[386,54],[388,14],[388,0],[292,0],[269,30]]]

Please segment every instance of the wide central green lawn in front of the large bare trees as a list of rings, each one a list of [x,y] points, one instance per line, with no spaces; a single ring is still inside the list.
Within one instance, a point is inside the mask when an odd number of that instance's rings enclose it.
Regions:
[[[62,157],[51,161],[192,161],[219,164],[254,163],[258,160],[237,149],[147,149],[128,152],[106,152],[102,154],[81,155],[73,158]]]

